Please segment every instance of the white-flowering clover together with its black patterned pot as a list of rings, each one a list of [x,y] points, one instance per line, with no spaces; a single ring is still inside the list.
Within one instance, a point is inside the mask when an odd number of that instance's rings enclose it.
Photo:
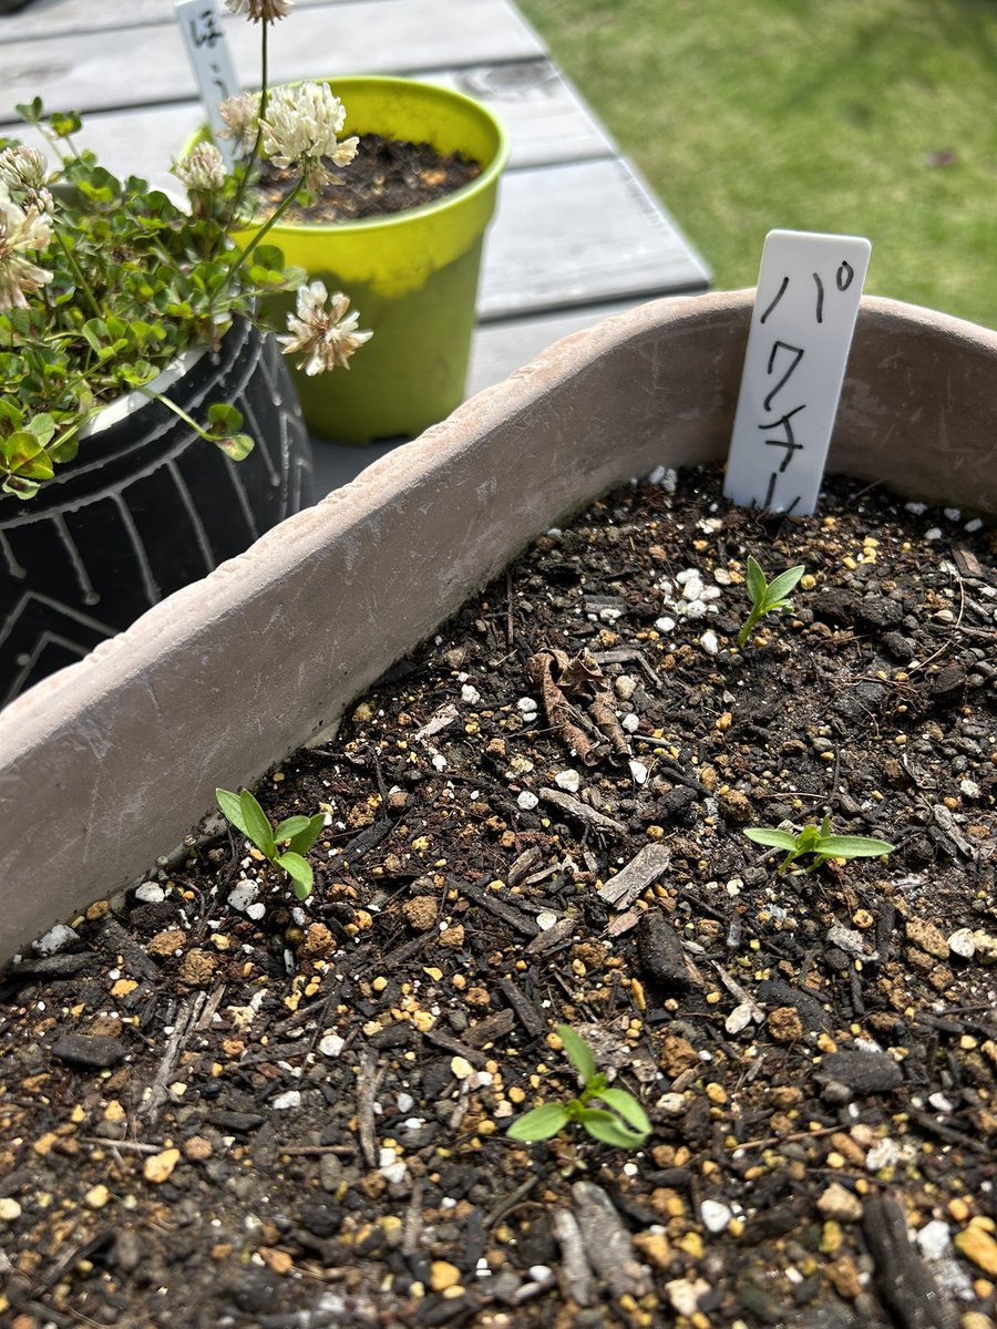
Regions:
[[[266,31],[282,12],[250,17]],[[178,202],[77,148],[78,116],[19,109],[58,166],[0,145],[0,704],[311,500],[259,307],[303,274],[265,243],[277,218],[233,245],[243,173],[198,145],[174,163]],[[314,109],[291,98],[273,141],[294,173],[287,206],[322,153],[350,155]],[[307,299],[284,352],[344,365],[370,334],[346,296]],[[316,358],[316,339],[335,354]]]

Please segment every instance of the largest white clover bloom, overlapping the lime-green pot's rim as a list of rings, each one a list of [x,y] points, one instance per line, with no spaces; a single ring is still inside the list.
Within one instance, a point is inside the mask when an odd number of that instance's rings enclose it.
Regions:
[[[263,155],[275,166],[292,167],[304,175],[307,189],[318,190],[332,179],[326,161],[348,166],[356,155],[356,138],[336,137],[346,122],[346,109],[328,84],[303,82],[275,88],[267,100]]]

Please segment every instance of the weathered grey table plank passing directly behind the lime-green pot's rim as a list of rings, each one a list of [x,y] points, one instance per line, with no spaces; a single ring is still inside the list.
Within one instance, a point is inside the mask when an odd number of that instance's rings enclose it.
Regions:
[[[592,113],[546,60],[429,70],[424,77],[469,93],[495,110],[509,130],[513,167],[584,161],[614,152]],[[144,175],[162,186],[171,181],[166,175],[170,161],[203,120],[195,101],[93,112],[85,117],[80,145],[97,153],[114,174]],[[0,125],[0,136],[45,146],[28,125]]]

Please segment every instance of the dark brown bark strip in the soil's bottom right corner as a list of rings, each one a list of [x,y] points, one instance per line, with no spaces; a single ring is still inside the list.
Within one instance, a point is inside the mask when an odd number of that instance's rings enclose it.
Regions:
[[[869,1196],[861,1228],[883,1300],[905,1329],[956,1329],[958,1317],[911,1244],[897,1201],[888,1195]]]

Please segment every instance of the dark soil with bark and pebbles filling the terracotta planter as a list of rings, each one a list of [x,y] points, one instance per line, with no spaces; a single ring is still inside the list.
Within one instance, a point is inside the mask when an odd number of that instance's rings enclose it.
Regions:
[[[4,1322],[992,1325],[994,552],[714,472],[538,540],[259,785],[307,901],[209,823],[7,971]],[[826,809],[895,852],[743,835]],[[643,1148],[509,1140],[558,1022]]]

